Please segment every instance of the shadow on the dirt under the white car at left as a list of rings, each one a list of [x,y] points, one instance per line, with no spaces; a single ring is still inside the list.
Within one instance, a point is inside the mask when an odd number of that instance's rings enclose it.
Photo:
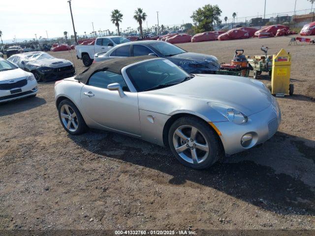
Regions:
[[[10,102],[0,103],[0,117],[31,110],[46,103],[41,97],[26,97]]]

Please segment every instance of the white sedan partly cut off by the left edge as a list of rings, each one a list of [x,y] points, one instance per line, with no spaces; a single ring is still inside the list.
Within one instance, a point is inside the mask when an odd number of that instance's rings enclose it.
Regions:
[[[0,103],[34,97],[38,91],[34,75],[0,58]]]

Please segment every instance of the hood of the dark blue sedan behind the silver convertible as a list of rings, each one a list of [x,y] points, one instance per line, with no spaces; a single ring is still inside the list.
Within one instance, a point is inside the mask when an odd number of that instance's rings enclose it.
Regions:
[[[181,53],[167,59],[181,66],[183,69],[208,69],[218,70],[219,61],[215,56],[200,54],[200,53]]]

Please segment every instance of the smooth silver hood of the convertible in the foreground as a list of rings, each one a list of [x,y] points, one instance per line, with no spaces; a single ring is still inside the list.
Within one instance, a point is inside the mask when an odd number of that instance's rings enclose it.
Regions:
[[[169,99],[176,97],[182,98],[180,100],[220,103],[246,116],[258,113],[272,103],[269,90],[260,81],[226,75],[199,74],[184,83],[145,93],[158,97],[168,96]]]

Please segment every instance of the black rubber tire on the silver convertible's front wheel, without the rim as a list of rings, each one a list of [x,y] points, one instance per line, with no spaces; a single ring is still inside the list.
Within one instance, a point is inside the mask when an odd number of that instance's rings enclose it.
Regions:
[[[184,160],[175,150],[174,143],[173,143],[173,135],[177,128],[182,127],[183,125],[189,125],[197,128],[206,139],[206,142],[209,147],[208,155],[205,157],[203,162],[201,163],[190,163]],[[197,139],[197,138],[196,138]],[[221,142],[219,141],[218,135],[215,131],[211,128],[209,124],[203,121],[200,118],[195,117],[182,117],[177,119],[170,127],[168,132],[168,143],[172,153],[175,155],[177,160],[181,162],[183,165],[188,166],[193,169],[206,169],[216,163],[219,158],[224,153],[223,148],[221,146]],[[185,144],[184,144],[185,145]],[[193,147],[191,147],[193,148]],[[187,149],[189,151],[190,148]]]

